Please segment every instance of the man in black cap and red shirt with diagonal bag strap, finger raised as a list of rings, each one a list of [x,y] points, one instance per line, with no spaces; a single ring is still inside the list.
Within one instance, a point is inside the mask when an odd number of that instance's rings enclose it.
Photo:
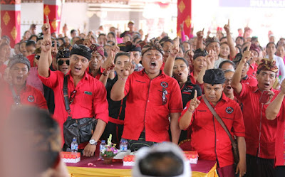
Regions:
[[[214,107],[232,136],[237,136],[239,163],[234,169],[232,143],[226,131],[213,116],[202,97],[195,97],[187,103],[179,120],[180,129],[192,129],[191,146],[198,151],[199,159],[217,160],[219,176],[244,176],[246,172],[244,121],[239,104],[223,94],[224,73],[220,69],[206,70],[203,77],[204,95]]]

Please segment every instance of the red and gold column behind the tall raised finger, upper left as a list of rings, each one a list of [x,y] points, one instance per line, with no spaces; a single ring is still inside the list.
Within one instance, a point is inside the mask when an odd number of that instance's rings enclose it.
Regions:
[[[46,23],[46,16],[49,18],[51,33],[59,33],[61,26],[61,6],[43,4],[43,22]]]

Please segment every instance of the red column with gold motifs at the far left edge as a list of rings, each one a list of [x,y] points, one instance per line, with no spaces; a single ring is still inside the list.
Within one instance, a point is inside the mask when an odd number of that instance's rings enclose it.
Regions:
[[[11,48],[21,40],[21,0],[1,0],[2,36],[9,36]]]

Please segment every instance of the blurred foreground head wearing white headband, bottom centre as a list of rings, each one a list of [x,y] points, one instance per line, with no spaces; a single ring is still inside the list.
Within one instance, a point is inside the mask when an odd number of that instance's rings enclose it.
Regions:
[[[133,177],[191,177],[190,164],[185,160],[183,151],[171,142],[143,147],[135,158]]]

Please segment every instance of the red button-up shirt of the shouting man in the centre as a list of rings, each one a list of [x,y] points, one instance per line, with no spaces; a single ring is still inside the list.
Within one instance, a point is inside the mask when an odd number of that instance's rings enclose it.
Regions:
[[[177,80],[162,73],[150,80],[145,70],[134,72],[125,83],[125,121],[123,138],[138,140],[145,129],[146,141],[170,141],[170,113],[182,112],[182,96]],[[162,105],[162,89],[167,102]]]

